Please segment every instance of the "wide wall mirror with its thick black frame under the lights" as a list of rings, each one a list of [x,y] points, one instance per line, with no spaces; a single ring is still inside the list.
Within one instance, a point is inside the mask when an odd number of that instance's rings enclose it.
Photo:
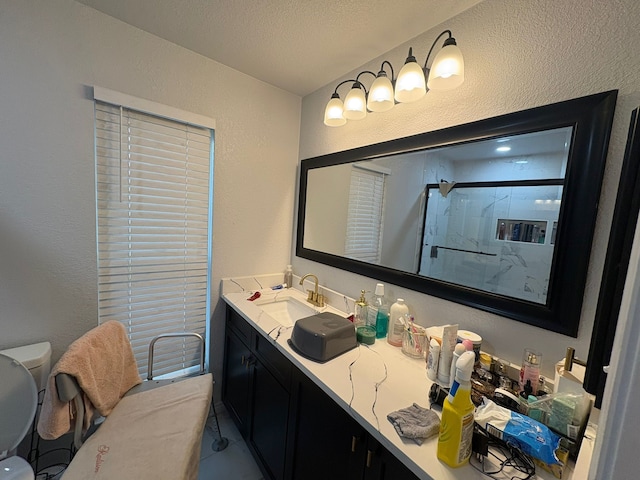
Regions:
[[[616,97],[303,160],[296,254],[576,336]]]

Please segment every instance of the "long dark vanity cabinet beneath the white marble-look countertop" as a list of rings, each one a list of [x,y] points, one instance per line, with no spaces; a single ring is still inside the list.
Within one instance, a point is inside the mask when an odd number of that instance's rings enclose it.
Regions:
[[[231,307],[222,400],[267,479],[417,480]]]

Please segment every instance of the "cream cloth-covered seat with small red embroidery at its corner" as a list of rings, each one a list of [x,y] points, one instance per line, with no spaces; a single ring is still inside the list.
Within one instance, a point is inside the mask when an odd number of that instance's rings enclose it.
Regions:
[[[211,374],[123,397],[84,442],[64,480],[195,480]]]

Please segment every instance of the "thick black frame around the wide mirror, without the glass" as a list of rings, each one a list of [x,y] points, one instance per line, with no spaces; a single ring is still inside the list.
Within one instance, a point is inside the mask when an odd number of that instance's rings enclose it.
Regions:
[[[296,255],[377,281],[576,337],[617,95],[617,90],[611,90],[302,160]],[[307,179],[311,169],[566,126],[573,127],[573,136],[546,305],[495,295],[304,247]]]

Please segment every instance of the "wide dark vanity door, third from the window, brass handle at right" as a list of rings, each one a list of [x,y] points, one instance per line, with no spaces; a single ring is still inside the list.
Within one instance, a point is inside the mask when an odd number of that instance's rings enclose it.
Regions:
[[[304,374],[296,374],[294,480],[360,480],[364,429]]]

